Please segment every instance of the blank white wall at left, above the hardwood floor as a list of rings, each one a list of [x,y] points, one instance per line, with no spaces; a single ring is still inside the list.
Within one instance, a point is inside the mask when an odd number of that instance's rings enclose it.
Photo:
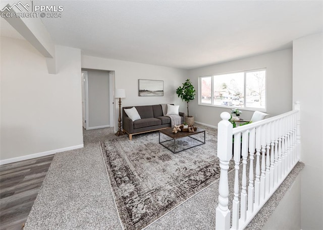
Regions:
[[[48,74],[29,42],[1,37],[1,164],[83,145],[81,51],[57,46],[57,66]]]

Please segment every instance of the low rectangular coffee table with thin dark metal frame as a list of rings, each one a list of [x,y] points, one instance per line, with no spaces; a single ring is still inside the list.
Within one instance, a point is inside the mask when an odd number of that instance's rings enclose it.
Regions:
[[[198,138],[193,137],[194,135],[199,134],[199,133],[203,133],[204,134],[203,137],[202,137],[202,140],[201,140],[201,138],[198,139]],[[166,135],[167,137],[170,137],[171,139],[167,139],[167,140],[162,140],[161,141],[160,140],[160,134]],[[178,146],[177,145],[177,140],[182,139],[184,137],[189,137],[189,138],[194,139],[193,145],[189,145],[186,148],[181,148],[181,149],[178,149],[177,150],[176,149],[176,147]],[[204,129],[201,129],[201,128],[197,128],[196,131],[194,131],[194,132],[178,132],[178,133],[173,133],[173,128],[167,128],[167,129],[159,130],[159,136],[158,136],[158,138],[159,138],[159,144],[163,145],[164,147],[166,147],[167,149],[169,149],[170,151],[172,151],[173,154],[176,154],[177,152],[184,151],[184,150],[187,150],[189,148],[193,148],[193,147],[199,146],[201,144],[205,144],[205,130]]]

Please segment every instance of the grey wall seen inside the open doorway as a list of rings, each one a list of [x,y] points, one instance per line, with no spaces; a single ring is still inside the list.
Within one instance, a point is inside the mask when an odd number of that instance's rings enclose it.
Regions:
[[[109,72],[86,70],[88,74],[88,125],[99,128],[110,125]]]

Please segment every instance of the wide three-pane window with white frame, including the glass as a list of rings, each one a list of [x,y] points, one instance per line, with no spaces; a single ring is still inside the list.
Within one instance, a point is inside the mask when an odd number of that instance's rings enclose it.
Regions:
[[[199,78],[199,105],[266,109],[266,69]]]

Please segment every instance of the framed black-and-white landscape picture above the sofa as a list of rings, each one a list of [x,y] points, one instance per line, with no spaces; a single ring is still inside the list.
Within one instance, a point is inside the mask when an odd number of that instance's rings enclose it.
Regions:
[[[164,81],[139,79],[139,96],[164,96]]]

